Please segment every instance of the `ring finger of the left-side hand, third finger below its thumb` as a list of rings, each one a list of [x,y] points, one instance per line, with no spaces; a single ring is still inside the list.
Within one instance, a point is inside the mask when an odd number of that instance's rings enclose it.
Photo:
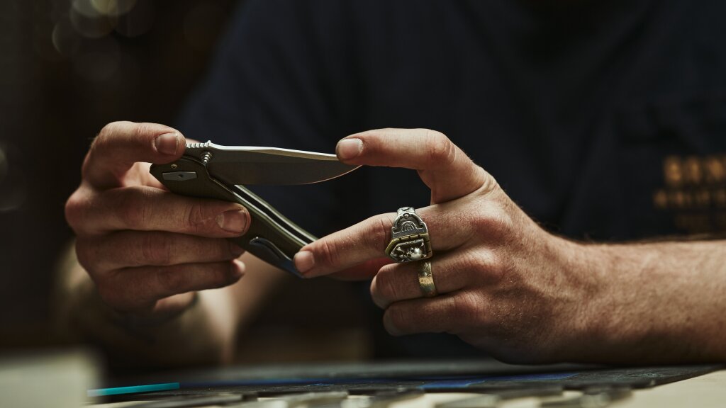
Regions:
[[[118,311],[150,311],[163,298],[232,285],[244,274],[241,261],[119,269],[94,277],[99,295]]]

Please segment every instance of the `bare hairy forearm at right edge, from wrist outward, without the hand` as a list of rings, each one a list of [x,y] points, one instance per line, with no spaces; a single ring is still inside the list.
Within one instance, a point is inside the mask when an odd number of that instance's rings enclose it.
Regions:
[[[726,242],[582,245],[601,289],[585,308],[595,360],[726,361]]]

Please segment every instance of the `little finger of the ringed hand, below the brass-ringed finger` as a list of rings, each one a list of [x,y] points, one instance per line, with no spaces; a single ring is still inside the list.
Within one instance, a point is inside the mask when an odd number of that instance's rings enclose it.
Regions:
[[[459,291],[435,298],[421,298],[391,304],[383,314],[383,325],[391,335],[425,332],[456,334],[471,327],[478,315],[486,313],[484,302]]]

